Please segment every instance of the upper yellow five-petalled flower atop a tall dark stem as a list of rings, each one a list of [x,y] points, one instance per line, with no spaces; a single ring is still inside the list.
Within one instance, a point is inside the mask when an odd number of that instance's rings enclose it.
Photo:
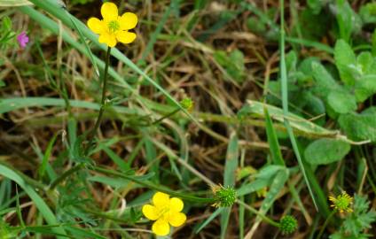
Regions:
[[[118,8],[113,3],[105,3],[100,9],[103,19],[90,18],[88,27],[99,35],[98,41],[109,47],[114,47],[117,42],[128,44],[135,41],[136,34],[128,30],[136,27],[137,16],[132,12],[118,15]]]

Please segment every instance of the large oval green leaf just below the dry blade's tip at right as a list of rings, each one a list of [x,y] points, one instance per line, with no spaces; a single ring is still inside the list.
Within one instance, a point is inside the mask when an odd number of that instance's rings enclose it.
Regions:
[[[311,165],[327,165],[340,161],[350,149],[349,143],[324,138],[310,143],[304,151],[304,158]]]

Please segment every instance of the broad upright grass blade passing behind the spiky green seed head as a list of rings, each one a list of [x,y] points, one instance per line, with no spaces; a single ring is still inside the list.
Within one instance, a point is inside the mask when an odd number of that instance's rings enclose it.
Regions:
[[[236,170],[239,165],[239,140],[235,133],[230,136],[229,146],[227,148],[226,162],[223,173],[223,186],[234,187]],[[225,238],[227,226],[230,220],[231,207],[226,207],[221,212],[221,238]]]

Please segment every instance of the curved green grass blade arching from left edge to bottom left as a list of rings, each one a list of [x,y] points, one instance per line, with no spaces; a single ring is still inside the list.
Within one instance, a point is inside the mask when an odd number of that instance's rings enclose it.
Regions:
[[[58,220],[55,218],[55,215],[51,211],[50,207],[43,201],[43,198],[39,197],[35,190],[22,179],[18,173],[13,172],[12,169],[8,168],[7,166],[0,165],[0,174],[11,179],[12,181],[17,182],[17,184],[25,190],[28,197],[33,200],[36,208],[39,210],[39,212],[41,212],[44,220],[46,220],[49,225],[58,225]],[[62,227],[51,228],[51,231],[59,235],[67,235],[66,231]],[[58,238],[64,237],[58,236]]]

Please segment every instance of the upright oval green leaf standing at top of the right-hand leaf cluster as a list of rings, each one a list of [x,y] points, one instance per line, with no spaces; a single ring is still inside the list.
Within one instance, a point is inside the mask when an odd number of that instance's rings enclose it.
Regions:
[[[347,85],[354,85],[355,79],[349,70],[349,66],[356,66],[356,57],[349,44],[338,40],[334,48],[335,65],[340,72],[341,81]]]

